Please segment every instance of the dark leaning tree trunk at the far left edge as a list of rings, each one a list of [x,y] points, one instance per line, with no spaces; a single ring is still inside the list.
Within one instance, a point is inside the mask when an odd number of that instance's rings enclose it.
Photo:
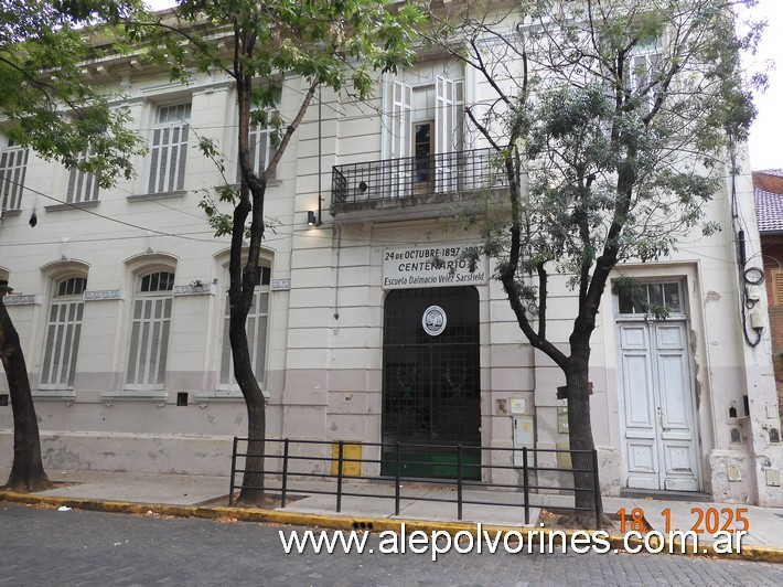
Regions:
[[[0,359],[8,377],[13,412],[13,465],[4,488],[12,491],[43,491],[54,487],[46,477],[41,459],[39,423],[30,391],[28,366],[19,342],[19,333],[8,314],[0,287]]]

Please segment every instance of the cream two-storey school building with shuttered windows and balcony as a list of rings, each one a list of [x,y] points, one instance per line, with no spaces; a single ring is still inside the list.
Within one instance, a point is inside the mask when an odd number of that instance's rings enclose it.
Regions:
[[[213,138],[235,164],[232,86],[218,76],[173,85],[126,60],[85,75],[121,87],[149,137],[136,179],[98,190],[89,177],[0,145],[0,279],[15,289],[6,303],[24,341],[44,462],[226,474],[247,416],[227,342],[228,238],[213,237],[197,205],[221,177],[194,147],[196,134]],[[324,92],[267,191],[278,226],[267,233],[248,332],[269,394],[269,437],[510,448],[522,418],[536,447],[566,447],[561,372],[526,344],[491,278],[494,262],[482,258],[474,273],[461,266],[478,232],[444,230],[441,218],[447,203],[503,189],[461,108],[491,88],[437,53],[378,83],[372,107]],[[286,78],[281,116],[292,116],[302,92]],[[256,137],[262,166],[268,134]],[[737,218],[750,265],[759,249],[744,178],[733,191],[727,179],[709,203],[722,232],[620,268],[667,301],[666,321],[604,295],[591,380],[607,494],[682,490],[783,505],[764,291],[752,310],[740,295]],[[550,332],[566,342],[575,299],[565,277],[550,287]],[[761,344],[746,343],[743,317]],[[11,445],[11,409],[0,406],[0,465]],[[452,453],[427,453],[431,467],[412,472],[452,474]],[[468,458],[512,462],[508,452]]]

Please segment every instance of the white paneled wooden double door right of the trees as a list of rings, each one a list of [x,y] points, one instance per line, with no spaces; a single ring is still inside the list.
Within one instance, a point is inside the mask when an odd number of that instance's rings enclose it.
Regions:
[[[628,487],[698,491],[685,321],[619,324]]]

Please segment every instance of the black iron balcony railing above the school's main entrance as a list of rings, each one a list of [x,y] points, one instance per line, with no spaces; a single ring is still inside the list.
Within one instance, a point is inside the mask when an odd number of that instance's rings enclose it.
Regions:
[[[494,149],[474,149],[334,166],[332,206],[503,188],[496,157]]]

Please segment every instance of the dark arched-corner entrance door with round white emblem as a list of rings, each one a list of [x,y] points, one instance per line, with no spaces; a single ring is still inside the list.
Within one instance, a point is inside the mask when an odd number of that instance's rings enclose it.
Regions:
[[[382,474],[481,479],[479,292],[397,289],[384,306]]]

